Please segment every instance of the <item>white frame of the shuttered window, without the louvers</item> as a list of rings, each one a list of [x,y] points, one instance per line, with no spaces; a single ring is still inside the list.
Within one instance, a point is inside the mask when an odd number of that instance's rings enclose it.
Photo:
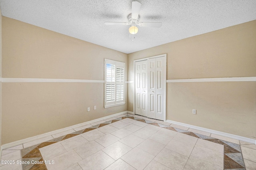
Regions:
[[[106,81],[106,78],[107,78],[107,64],[112,64],[114,65],[114,68],[115,68],[115,79],[114,79],[114,82],[109,82],[109,81]],[[124,78],[123,78],[123,81],[121,82],[117,82],[116,79],[117,79],[117,68],[120,70],[123,69],[124,73]],[[121,61],[114,61],[114,60],[111,60],[111,59],[105,59],[104,60],[104,108],[108,108],[108,107],[114,107],[114,106],[119,106],[119,105],[124,105],[125,104],[125,63],[124,62],[121,62]],[[119,72],[120,73],[120,72]],[[107,85],[113,85],[114,84],[114,101],[107,101],[106,97],[107,97]],[[117,96],[117,93],[116,93],[116,89],[117,89],[117,85],[123,85],[123,94],[121,94],[121,96],[123,95],[123,99],[122,100],[117,100],[116,99],[116,96]],[[122,89],[121,89],[122,90]]]

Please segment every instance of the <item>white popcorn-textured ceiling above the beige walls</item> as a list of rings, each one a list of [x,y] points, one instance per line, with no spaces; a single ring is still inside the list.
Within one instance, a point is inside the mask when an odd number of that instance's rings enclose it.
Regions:
[[[256,20],[256,0],[138,0],[140,22],[134,41],[128,22],[132,0],[0,0],[2,16],[59,32],[86,42],[132,53],[164,43]]]

